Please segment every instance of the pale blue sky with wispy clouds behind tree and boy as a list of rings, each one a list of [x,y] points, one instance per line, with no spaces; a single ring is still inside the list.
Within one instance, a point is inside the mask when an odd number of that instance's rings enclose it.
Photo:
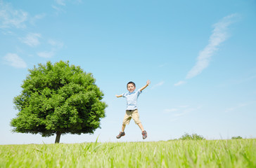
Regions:
[[[108,104],[85,141],[160,141],[185,132],[206,139],[256,137],[256,1],[0,0],[0,144],[51,144],[12,133],[13,97],[28,69],[70,61],[93,73]],[[116,139],[126,102],[115,94],[151,80],[138,100],[148,138],[134,121]]]

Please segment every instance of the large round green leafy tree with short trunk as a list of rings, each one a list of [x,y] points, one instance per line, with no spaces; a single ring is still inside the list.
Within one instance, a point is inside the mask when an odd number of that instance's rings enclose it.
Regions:
[[[14,97],[17,118],[11,120],[13,132],[56,134],[92,134],[105,117],[107,104],[91,73],[69,62],[38,64],[29,69],[20,95]]]

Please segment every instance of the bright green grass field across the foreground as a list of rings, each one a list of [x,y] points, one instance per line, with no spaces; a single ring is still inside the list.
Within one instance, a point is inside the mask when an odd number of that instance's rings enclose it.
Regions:
[[[256,167],[256,139],[2,145],[0,167]]]

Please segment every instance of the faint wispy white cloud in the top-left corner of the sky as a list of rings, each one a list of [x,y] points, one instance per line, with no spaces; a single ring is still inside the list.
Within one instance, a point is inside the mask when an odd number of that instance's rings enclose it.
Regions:
[[[0,1],[0,28],[25,28],[28,13],[23,10],[15,10],[9,3]]]

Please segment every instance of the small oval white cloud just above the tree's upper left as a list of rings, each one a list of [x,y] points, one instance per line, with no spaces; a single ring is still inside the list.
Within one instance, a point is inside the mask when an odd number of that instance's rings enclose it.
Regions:
[[[4,61],[6,64],[11,65],[15,68],[26,68],[26,62],[20,58],[17,54],[8,53],[4,56]]]

